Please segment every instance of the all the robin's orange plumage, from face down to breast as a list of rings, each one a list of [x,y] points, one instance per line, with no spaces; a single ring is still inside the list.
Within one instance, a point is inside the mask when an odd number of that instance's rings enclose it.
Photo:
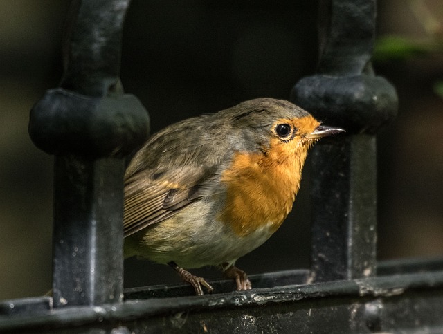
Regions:
[[[275,232],[292,209],[300,187],[303,164],[314,143],[302,140],[318,126],[310,115],[293,120],[299,135],[291,142],[273,138],[262,153],[236,153],[221,175],[226,185],[226,207],[219,219],[230,224],[239,236],[268,226]]]

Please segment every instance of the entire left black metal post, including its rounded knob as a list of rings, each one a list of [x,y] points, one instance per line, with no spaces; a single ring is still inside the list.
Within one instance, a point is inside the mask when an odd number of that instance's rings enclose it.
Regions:
[[[147,112],[120,85],[129,0],[73,1],[61,87],[30,113],[35,145],[55,154],[54,306],[123,298],[125,156],[145,140]]]

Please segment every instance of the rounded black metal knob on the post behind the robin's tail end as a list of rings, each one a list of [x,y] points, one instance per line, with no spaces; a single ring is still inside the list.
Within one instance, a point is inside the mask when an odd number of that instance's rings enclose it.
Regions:
[[[30,137],[48,154],[122,157],[148,131],[147,112],[130,94],[91,97],[49,89],[30,112]]]

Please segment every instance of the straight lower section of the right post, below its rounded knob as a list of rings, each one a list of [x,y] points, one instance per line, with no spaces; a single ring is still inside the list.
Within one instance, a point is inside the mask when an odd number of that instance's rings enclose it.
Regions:
[[[328,281],[374,274],[374,136],[326,142],[312,153],[313,278]]]

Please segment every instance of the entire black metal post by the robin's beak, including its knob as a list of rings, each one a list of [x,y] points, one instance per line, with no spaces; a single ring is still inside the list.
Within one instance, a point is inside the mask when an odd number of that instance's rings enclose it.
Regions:
[[[375,0],[320,0],[318,74],[291,99],[345,138],[312,152],[312,279],[375,274],[377,191],[375,133],[397,112],[395,89],[372,72]]]

